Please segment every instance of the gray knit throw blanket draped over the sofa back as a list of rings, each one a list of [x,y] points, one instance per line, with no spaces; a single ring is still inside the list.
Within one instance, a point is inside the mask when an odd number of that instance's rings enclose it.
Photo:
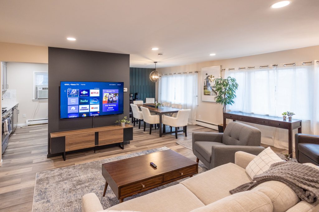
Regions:
[[[296,195],[309,203],[319,203],[319,170],[296,162],[278,162],[271,164],[263,174],[255,175],[253,181],[245,183],[229,191],[235,194],[250,190],[257,185],[276,180],[289,186]]]

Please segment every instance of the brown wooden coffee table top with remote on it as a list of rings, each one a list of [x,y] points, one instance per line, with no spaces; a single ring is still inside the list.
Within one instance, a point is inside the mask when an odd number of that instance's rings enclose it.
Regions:
[[[150,162],[155,163],[157,168],[153,168]],[[102,174],[104,178],[112,181],[108,181],[111,187],[112,183],[115,183],[117,187],[121,187],[132,182],[145,180],[159,174],[196,164],[197,162],[169,149],[104,163],[102,164]],[[108,176],[105,176],[105,174]]]

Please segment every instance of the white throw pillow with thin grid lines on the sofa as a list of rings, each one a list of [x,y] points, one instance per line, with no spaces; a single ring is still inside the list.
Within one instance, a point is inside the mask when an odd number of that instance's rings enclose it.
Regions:
[[[270,147],[264,149],[246,167],[246,173],[251,179],[255,175],[262,174],[270,168],[270,165],[283,161],[279,156],[271,150]]]

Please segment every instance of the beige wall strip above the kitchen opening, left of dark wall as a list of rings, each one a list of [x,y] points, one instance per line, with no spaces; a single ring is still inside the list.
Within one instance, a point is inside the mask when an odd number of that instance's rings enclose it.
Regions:
[[[48,63],[48,47],[0,42],[0,61]],[[1,148],[0,145],[0,152]],[[0,154],[1,159],[2,155]]]

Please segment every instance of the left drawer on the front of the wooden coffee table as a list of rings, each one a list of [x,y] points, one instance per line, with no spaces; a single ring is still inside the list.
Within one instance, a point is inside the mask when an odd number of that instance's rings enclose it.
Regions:
[[[151,186],[155,186],[157,184],[160,184],[163,182],[163,177],[162,176],[158,176],[158,177],[154,177],[152,179],[148,179],[145,181],[141,181],[141,182],[137,182],[128,186],[124,186],[122,188],[120,188],[120,196],[124,196]]]

